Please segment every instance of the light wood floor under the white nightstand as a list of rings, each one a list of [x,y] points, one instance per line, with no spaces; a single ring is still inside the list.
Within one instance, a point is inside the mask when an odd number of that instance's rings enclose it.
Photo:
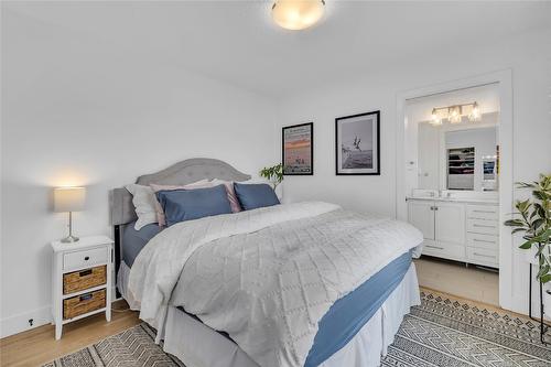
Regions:
[[[129,311],[123,301],[112,310],[110,323],[98,314],[65,325],[60,341],[54,338],[52,325],[0,339],[0,366],[41,366],[140,323],[138,313]]]

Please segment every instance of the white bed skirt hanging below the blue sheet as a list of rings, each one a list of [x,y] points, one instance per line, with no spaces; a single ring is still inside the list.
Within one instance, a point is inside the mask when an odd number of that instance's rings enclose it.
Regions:
[[[128,270],[128,267],[126,267]],[[120,274],[119,272],[119,278]],[[120,290],[120,288],[119,288]],[[125,294],[121,290],[121,293]],[[421,304],[415,265],[372,317],[323,367],[376,367],[387,354],[403,316]],[[188,367],[259,367],[237,344],[176,307],[169,307],[164,350]]]

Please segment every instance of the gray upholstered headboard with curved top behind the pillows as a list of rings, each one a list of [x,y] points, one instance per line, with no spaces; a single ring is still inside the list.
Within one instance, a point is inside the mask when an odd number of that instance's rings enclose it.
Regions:
[[[225,181],[247,181],[250,175],[237,171],[226,162],[210,158],[194,158],[170,168],[139,176],[140,185],[185,185],[199,180],[219,179]],[[111,195],[111,224],[123,225],[137,219],[132,195],[125,187],[115,188]]]

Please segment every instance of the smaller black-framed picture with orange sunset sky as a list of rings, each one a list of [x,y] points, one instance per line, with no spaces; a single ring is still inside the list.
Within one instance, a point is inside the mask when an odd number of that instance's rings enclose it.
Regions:
[[[283,174],[314,174],[314,122],[284,127],[281,141]]]

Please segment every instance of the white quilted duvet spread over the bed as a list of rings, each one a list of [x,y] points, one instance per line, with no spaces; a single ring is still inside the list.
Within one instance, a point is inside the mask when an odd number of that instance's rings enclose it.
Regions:
[[[260,366],[303,366],[331,305],[422,240],[317,202],[184,222],[134,260],[131,306],[161,333],[169,303],[183,306]]]

